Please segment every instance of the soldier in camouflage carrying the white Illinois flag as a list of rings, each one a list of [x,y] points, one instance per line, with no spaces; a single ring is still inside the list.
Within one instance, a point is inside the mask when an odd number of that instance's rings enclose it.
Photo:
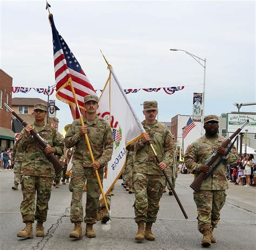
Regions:
[[[151,232],[152,224],[156,222],[159,201],[163,195],[165,178],[163,171],[171,163],[173,157],[172,134],[169,128],[156,120],[158,108],[156,101],[143,103],[145,120],[142,122],[146,134],[140,138],[134,147],[136,156],[133,166],[133,188],[135,192],[134,212],[138,233],[135,239],[142,241],[154,240]],[[153,144],[159,157],[156,161],[149,144]],[[146,223],[146,228],[145,228]]]

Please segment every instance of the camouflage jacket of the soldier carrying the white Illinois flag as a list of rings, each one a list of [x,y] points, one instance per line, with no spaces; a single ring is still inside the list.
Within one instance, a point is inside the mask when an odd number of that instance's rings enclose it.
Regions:
[[[170,165],[173,157],[173,136],[169,128],[161,122],[156,122],[152,128],[142,122],[144,129],[150,135],[151,143],[156,151],[160,162],[166,166]],[[156,157],[153,154],[149,144],[144,143],[140,138],[134,147],[136,156],[134,159],[133,172],[147,173],[149,175],[164,175],[163,171],[158,168]]]

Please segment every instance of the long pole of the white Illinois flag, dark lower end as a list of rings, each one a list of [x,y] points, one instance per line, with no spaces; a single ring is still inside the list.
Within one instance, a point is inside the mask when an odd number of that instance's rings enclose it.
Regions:
[[[100,52],[102,53],[101,50],[100,50]],[[114,74],[114,71],[113,71],[112,66],[111,66],[111,65],[109,64],[109,62],[106,60],[106,58],[105,58],[105,56],[104,56],[103,53],[102,53],[102,55],[103,55],[103,57],[104,57],[104,59],[105,59],[105,61],[106,61],[107,68],[109,68],[111,74],[113,75],[114,80],[116,80],[116,83],[117,83],[118,88],[120,89],[120,92],[123,94],[124,99],[126,100],[128,106],[130,107],[131,112],[132,112],[132,114],[133,114],[133,116],[134,116],[134,119],[136,120],[136,122],[137,122],[137,124],[138,124],[138,126],[139,126],[139,128],[140,128],[140,131],[141,131],[143,134],[146,134],[146,131],[145,131],[145,129],[144,129],[142,123],[139,121],[139,118],[138,118],[138,116],[136,115],[136,113],[134,112],[134,110],[133,110],[133,108],[132,108],[132,106],[131,106],[130,101],[127,99],[127,96],[126,96],[126,94],[124,93],[124,90],[123,90],[122,87],[120,86],[119,81],[118,81],[118,79],[117,79],[117,77],[116,77],[116,74]],[[149,146],[150,146],[151,150],[153,151],[154,156],[155,156],[156,159],[157,159],[157,163],[160,163],[159,158],[158,158],[157,153],[156,153],[156,150],[154,150],[154,147],[153,147],[152,143],[151,143],[151,142],[148,142],[148,143],[149,143]],[[188,218],[188,217],[187,217],[187,214],[186,214],[186,212],[185,212],[183,206],[182,206],[181,203],[180,203],[179,197],[177,196],[177,193],[176,193],[176,191],[174,190],[174,188],[173,188],[173,186],[172,186],[172,183],[170,182],[170,179],[169,179],[168,176],[167,176],[166,171],[163,170],[163,173],[164,173],[165,179],[167,180],[167,182],[168,182],[168,184],[169,184],[169,186],[170,186],[170,188],[171,188],[171,190],[172,190],[172,192],[173,192],[174,197],[176,198],[176,200],[177,200],[177,202],[178,202],[178,204],[179,204],[179,207],[180,207],[181,211],[182,211],[183,214],[184,214],[184,217],[187,219],[187,218]]]

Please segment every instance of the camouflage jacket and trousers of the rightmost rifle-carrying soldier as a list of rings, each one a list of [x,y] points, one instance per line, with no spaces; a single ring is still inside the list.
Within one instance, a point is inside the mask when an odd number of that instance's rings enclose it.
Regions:
[[[195,178],[200,173],[201,165],[205,164],[215,149],[220,147],[225,140],[226,138],[218,135],[215,141],[210,141],[204,135],[188,145],[184,156],[185,164],[187,169],[194,174]],[[225,149],[227,150],[228,147]],[[228,189],[226,165],[235,163],[237,158],[237,150],[233,147],[227,159],[213,172],[212,177],[204,180],[199,192],[194,192],[194,202],[197,205],[198,212],[198,230],[201,233],[203,233],[204,226],[217,227],[218,221],[220,220],[220,210],[225,204],[225,190]],[[215,164],[219,159],[220,157],[215,161]]]

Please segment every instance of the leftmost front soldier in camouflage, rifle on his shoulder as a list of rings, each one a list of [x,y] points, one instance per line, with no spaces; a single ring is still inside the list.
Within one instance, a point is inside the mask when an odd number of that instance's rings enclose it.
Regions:
[[[55,170],[45,154],[63,154],[64,145],[59,133],[49,124],[45,124],[46,114],[47,106],[43,103],[36,103],[34,106],[35,123],[27,125],[22,130],[17,142],[17,150],[24,152],[24,160],[21,167],[23,193],[21,214],[23,223],[26,224],[26,227],[17,233],[18,237],[33,238],[32,223],[34,220],[37,221],[36,236],[44,236],[43,223],[46,221],[48,202],[51,196],[51,183],[52,178],[55,176]],[[49,146],[44,149],[45,154],[30,134],[33,128],[48,141]]]

